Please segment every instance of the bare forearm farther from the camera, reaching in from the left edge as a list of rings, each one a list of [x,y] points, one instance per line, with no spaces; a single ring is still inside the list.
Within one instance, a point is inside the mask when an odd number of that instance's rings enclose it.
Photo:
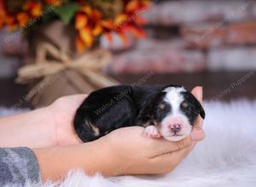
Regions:
[[[46,108],[0,118],[0,147],[29,148],[52,146],[54,127],[49,125]]]

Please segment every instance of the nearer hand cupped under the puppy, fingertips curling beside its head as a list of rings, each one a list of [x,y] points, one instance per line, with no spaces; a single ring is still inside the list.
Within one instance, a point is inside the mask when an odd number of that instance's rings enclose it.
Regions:
[[[194,88],[192,94],[202,104],[202,89]],[[122,174],[160,174],[171,172],[204,139],[202,119],[198,116],[191,137],[171,142],[166,139],[149,139],[143,127],[120,128],[99,139],[101,147],[108,147],[103,161],[109,162],[103,171],[107,176]],[[102,161],[102,159],[100,159]],[[109,167],[111,166],[111,167]]]

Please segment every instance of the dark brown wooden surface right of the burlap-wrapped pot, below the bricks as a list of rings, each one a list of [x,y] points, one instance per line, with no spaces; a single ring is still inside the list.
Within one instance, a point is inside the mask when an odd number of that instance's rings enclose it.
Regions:
[[[143,79],[143,76],[131,75],[119,75],[115,77],[119,82],[124,83],[139,82],[140,79]],[[189,89],[199,85],[204,88],[204,97],[208,100],[256,99],[255,71],[153,75],[144,82],[144,84],[155,83],[178,84]]]

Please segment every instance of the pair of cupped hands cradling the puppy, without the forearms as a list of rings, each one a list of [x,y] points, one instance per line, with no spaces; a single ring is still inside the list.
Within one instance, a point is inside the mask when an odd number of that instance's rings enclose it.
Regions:
[[[192,94],[202,104],[202,88],[194,88]],[[55,127],[55,145],[82,143],[73,130],[73,116],[85,97],[84,94],[63,97],[46,108]],[[117,129],[90,143],[93,150],[98,150],[93,156],[98,158],[98,163],[93,164],[95,172],[106,176],[171,172],[189,154],[196,142],[205,138],[202,122],[198,116],[191,136],[178,142],[150,139],[145,135],[143,127]]]

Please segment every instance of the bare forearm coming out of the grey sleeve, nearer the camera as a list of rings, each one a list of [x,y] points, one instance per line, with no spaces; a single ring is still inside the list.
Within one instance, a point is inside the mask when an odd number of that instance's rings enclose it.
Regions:
[[[83,169],[87,175],[112,176],[113,165],[108,150],[100,141],[66,147],[34,149],[43,181],[60,180],[72,169]]]

